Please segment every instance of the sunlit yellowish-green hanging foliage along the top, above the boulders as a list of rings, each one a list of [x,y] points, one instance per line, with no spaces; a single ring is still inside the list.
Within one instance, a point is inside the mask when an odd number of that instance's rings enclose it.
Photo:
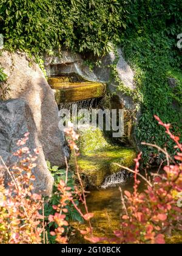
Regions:
[[[97,55],[119,43],[127,3],[118,0],[0,0],[5,47],[33,54],[66,48]]]

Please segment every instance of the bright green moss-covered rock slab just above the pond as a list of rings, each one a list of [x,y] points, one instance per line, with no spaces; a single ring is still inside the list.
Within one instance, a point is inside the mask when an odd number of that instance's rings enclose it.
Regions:
[[[131,167],[136,152],[132,148],[121,148],[106,141],[101,130],[83,132],[79,141],[81,155],[78,165],[81,174],[86,177],[88,186],[99,188],[104,179],[115,172],[121,171],[120,165]]]

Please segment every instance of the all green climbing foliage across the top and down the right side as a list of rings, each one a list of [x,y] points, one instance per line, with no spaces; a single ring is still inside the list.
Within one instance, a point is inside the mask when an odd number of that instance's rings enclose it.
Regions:
[[[138,141],[167,146],[153,115],[181,134],[181,13],[181,0],[0,0],[0,33],[5,48],[35,56],[54,48],[103,55],[110,42],[120,44],[140,91]],[[169,87],[167,77],[177,79],[177,88]],[[143,151],[147,160],[150,149]]]

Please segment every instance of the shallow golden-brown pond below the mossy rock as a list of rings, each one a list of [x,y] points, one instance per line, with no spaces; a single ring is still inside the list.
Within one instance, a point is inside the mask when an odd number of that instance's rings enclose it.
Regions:
[[[122,190],[132,191],[133,178],[130,178],[127,182],[117,185],[117,187],[107,188],[105,190],[91,191],[87,197],[87,205],[89,212],[94,213],[92,219],[93,233],[96,236],[112,237],[113,230],[118,229],[120,226],[120,214],[121,214],[121,193],[119,187]],[[146,187],[145,183],[141,181],[140,191]],[[73,223],[73,227],[84,229],[84,224]],[[182,243],[182,233],[175,234],[166,240],[167,243]],[[73,233],[69,243],[83,244],[87,243],[79,232]]]

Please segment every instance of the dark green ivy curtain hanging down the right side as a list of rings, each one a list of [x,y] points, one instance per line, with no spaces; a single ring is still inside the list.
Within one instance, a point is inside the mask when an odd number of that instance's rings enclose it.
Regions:
[[[170,70],[178,69],[178,77],[181,76],[182,56],[177,48],[177,35],[181,32],[180,10],[181,1],[165,1],[165,4],[160,0],[134,1],[126,32],[121,38],[142,95],[137,138],[171,149],[172,142],[163,133],[163,128],[157,126],[153,115],[161,116],[165,123],[172,123],[175,133],[181,134],[182,116],[173,107],[174,99],[180,98],[181,84],[174,91],[167,83]],[[144,147],[142,150],[147,161],[153,149]]]

